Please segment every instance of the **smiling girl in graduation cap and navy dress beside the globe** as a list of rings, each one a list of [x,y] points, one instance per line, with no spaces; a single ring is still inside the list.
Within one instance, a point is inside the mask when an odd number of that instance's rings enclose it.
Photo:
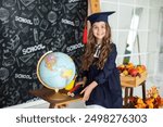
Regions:
[[[122,107],[122,87],[116,68],[116,46],[111,42],[108,16],[114,12],[95,13],[88,16],[91,27],[83,55],[83,100],[87,107]]]

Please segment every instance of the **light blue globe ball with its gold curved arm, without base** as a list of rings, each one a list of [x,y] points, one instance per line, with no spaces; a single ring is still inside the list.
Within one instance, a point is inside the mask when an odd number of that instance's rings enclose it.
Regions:
[[[54,90],[65,88],[73,80],[75,73],[74,61],[62,52],[49,51],[37,64],[37,76],[40,82]]]

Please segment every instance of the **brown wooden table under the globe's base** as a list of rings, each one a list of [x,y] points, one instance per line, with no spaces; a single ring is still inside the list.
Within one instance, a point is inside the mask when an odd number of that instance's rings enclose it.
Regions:
[[[62,109],[65,107],[67,104],[70,104],[71,102],[75,102],[78,100],[82,100],[82,96],[75,96],[75,97],[68,97],[66,94],[67,91],[65,90],[60,90],[60,93],[64,94],[65,99],[64,100],[55,100],[52,99],[52,96],[55,93],[54,90],[48,89],[46,87],[38,89],[38,90],[30,90],[29,93],[43,99],[45,101],[49,102],[49,109]]]

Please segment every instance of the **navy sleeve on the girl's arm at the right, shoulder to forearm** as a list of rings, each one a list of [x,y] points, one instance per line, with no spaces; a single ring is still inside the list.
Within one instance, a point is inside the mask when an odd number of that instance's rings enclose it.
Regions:
[[[104,64],[103,69],[99,73],[98,76],[95,77],[95,81],[98,82],[98,85],[103,84],[108,77],[112,74],[113,69],[116,67],[115,59],[117,55],[116,46],[113,45],[112,51]]]

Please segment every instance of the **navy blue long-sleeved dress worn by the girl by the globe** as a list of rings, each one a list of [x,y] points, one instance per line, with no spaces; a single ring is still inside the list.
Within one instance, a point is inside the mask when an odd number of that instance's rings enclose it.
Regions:
[[[87,77],[86,86],[97,81],[98,86],[92,90],[86,105],[98,104],[106,109],[121,109],[122,87],[120,81],[120,72],[116,68],[115,59],[117,55],[116,46],[111,43],[112,51],[104,64],[103,69],[98,69],[91,65],[89,71],[85,71],[83,76]]]

